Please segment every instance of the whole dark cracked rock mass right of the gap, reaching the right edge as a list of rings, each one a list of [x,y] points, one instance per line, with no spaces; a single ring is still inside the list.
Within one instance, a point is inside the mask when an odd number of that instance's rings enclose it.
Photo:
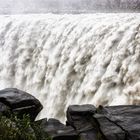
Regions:
[[[82,140],[140,140],[140,106],[73,105],[67,119]]]

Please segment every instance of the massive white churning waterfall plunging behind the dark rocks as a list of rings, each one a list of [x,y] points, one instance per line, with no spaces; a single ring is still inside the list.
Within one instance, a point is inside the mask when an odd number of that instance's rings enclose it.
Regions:
[[[43,117],[70,104],[140,104],[140,14],[0,16],[0,89],[37,97]]]

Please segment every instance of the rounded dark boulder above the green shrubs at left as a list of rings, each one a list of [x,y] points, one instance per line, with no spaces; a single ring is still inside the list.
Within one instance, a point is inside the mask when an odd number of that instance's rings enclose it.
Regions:
[[[0,90],[0,103],[17,112],[19,116],[29,114],[31,120],[34,120],[43,108],[35,97],[16,88]]]

